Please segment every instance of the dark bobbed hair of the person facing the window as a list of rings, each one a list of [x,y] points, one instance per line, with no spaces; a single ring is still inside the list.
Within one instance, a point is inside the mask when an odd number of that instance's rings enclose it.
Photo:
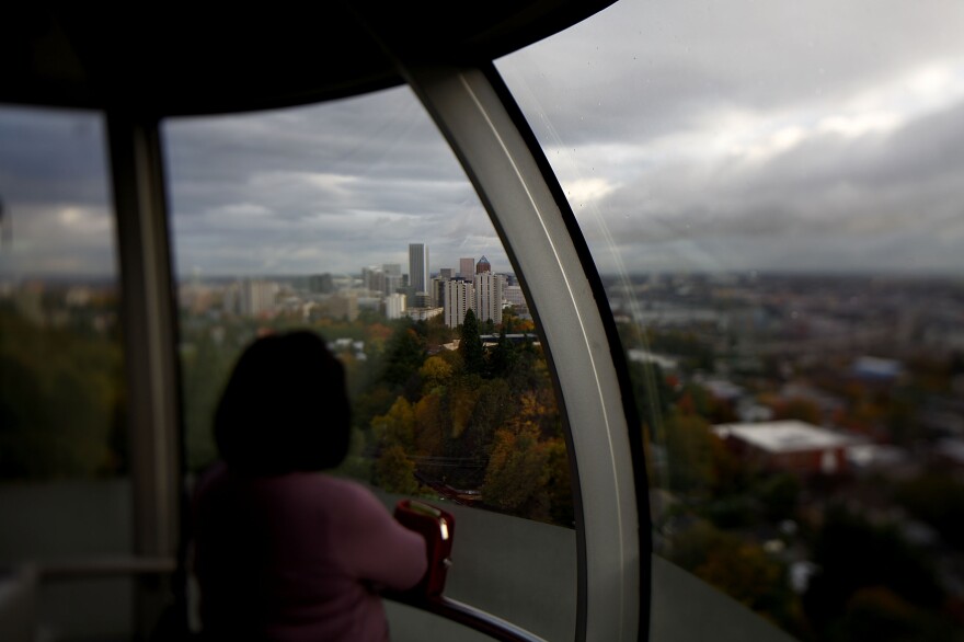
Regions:
[[[345,369],[307,330],[251,343],[215,414],[215,440],[231,470],[253,475],[322,470],[348,451]]]

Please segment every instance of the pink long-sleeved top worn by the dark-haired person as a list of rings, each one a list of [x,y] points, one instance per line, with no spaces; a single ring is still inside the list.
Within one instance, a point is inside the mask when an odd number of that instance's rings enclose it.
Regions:
[[[218,466],[194,501],[205,635],[389,639],[381,588],[425,573],[425,540],[365,486],[320,472],[243,478]]]

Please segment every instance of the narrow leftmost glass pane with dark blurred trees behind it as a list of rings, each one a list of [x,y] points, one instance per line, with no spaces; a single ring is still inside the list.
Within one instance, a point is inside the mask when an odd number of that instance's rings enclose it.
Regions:
[[[131,552],[105,165],[100,116],[0,107],[0,588],[65,638],[130,632],[123,582],[81,611],[83,586],[18,580],[24,564]]]

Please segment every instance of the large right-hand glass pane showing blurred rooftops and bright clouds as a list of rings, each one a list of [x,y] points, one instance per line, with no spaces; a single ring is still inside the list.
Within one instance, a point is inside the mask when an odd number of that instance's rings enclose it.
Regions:
[[[655,552],[802,640],[962,635],[962,27],[622,0],[497,64],[622,331]]]

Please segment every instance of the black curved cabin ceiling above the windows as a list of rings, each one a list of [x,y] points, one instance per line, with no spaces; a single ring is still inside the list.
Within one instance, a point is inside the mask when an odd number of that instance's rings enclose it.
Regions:
[[[400,84],[397,58],[485,62],[611,3],[25,3],[4,11],[0,101],[158,117],[291,106]]]

